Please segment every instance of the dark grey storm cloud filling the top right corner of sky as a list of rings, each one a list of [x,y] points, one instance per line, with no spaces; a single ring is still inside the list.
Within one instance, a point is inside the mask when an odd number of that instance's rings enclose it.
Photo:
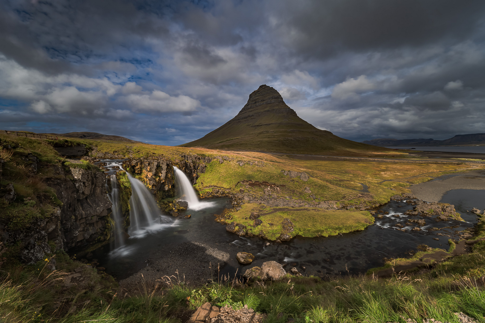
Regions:
[[[284,1],[275,30],[299,53],[450,44],[473,34],[485,2],[454,0]]]

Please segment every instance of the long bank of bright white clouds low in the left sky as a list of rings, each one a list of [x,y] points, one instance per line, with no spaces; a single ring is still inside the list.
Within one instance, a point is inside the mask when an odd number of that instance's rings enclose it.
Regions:
[[[26,69],[0,56],[0,95],[30,102],[32,111],[115,116],[123,119],[129,110],[105,111],[111,101],[134,111],[190,112],[201,106],[187,95],[171,96],[154,90],[143,91],[135,82],[121,86],[106,77],[92,78],[77,74],[45,75]]]

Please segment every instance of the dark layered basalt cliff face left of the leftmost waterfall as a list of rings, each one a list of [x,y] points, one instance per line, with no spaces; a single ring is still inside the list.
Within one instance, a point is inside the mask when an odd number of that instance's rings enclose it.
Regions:
[[[54,189],[59,206],[48,209],[22,228],[0,225],[2,241],[20,246],[19,257],[26,263],[45,259],[55,250],[68,250],[110,237],[111,202],[106,196],[106,175],[96,169],[51,166],[52,177],[45,184]]]

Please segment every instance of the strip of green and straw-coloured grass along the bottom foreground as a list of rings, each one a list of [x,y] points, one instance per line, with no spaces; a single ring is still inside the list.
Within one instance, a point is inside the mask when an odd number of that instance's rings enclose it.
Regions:
[[[454,312],[464,312],[483,323],[484,273],[477,276],[476,270],[485,265],[484,249],[485,244],[477,246],[472,254],[455,257],[414,277],[336,277],[323,281],[317,277],[288,276],[278,282],[212,282],[198,287],[162,279],[162,290],[148,291],[140,286],[136,296],[123,297],[121,291],[71,291],[67,306],[58,309],[51,307],[58,299],[52,292],[59,279],[55,275],[24,283],[10,279],[0,284],[0,319],[12,323],[183,323],[195,308],[211,302],[235,309],[247,305],[266,313],[269,323],[285,323],[289,318],[307,323],[404,322],[403,318],[457,323]],[[478,267],[475,272],[464,270],[470,266]],[[448,269],[443,272],[445,267]]]

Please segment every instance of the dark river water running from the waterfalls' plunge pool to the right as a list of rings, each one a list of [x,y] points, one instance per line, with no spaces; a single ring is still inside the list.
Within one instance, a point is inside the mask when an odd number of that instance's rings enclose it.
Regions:
[[[213,205],[202,210],[187,210],[188,219],[173,218],[170,225],[160,231],[153,231],[144,236],[129,238],[126,245],[118,252],[111,252],[110,246],[104,246],[93,252],[94,258],[105,267],[108,274],[117,279],[124,279],[146,266],[148,259],[160,259],[170,250],[183,242],[199,242],[229,253],[230,259],[221,268],[220,274],[243,274],[252,266],[261,266],[264,261],[277,261],[287,264],[285,268],[297,267],[306,275],[345,275],[361,274],[368,269],[384,264],[384,258],[406,257],[420,245],[448,249],[448,239],[457,239],[456,232],[472,228],[477,223],[477,216],[469,211],[471,207],[485,208],[482,190],[452,190],[443,197],[443,202],[456,205],[466,222],[450,220],[435,221],[430,217],[406,216],[404,212],[412,209],[411,201],[390,201],[378,211],[388,212],[382,219],[375,218],[375,223],[363,231],[355,231],[337,236],[303,238],[295,237],[283,243],[271,242],[258,237],[238,237],[226,231],[226,226],[214,221],[214,214],[231,207],[231,201],[225,198],[206,199]],[[400,216],[392,216],[399,214]],[[421,231],[405,232],[397,230],[395,224],[407,219],[426,220]],[[431,228],[440,230],[433,231]],[[442,235],[439,235],[439,234]],[[435,240],[437,238],[439,240]],[[250,252],[256,256],[249,265],[241,265],[236,260],[237,252]],[[180,268],[179,273],[183,273]],[[175,273],[161,273],[174,275]],[[181,274],[180,274],[181,275]]]

